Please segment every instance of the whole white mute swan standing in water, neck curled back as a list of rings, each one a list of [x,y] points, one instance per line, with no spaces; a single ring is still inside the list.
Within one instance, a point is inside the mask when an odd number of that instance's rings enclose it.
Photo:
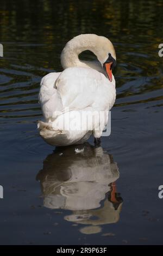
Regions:
[[[79,60],[85,50],[98,62]],[[41,80],[39,102],[45,120],[37,125],[40,135],[47,143],[62,146],[84,143],[93,134],[99,145],[116,98],[114,46],[104,36],[75,36],[61,52],[61,65],[64,71]]]

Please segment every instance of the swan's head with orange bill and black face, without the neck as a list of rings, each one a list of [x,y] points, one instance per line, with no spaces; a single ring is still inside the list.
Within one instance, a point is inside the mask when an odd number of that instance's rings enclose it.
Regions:
[[[102,64],[110,82],[112,81],[112,69],[116,66],[116,53],[112,42],[104,36],[98,36],[96,50],[94,52]]]

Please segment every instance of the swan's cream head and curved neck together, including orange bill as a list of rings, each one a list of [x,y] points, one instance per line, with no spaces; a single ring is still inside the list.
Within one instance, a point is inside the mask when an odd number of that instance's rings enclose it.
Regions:
[[[116,53],[112,42],[105,36],[81,34],[68,41],[61,53],[62,67],[66,69],[71,66],[85,66],[84,62],[80,62],[78,55],[86,50],[90,50],[97,56],[106,75],[112,81],[112,69],[116,65]]]

